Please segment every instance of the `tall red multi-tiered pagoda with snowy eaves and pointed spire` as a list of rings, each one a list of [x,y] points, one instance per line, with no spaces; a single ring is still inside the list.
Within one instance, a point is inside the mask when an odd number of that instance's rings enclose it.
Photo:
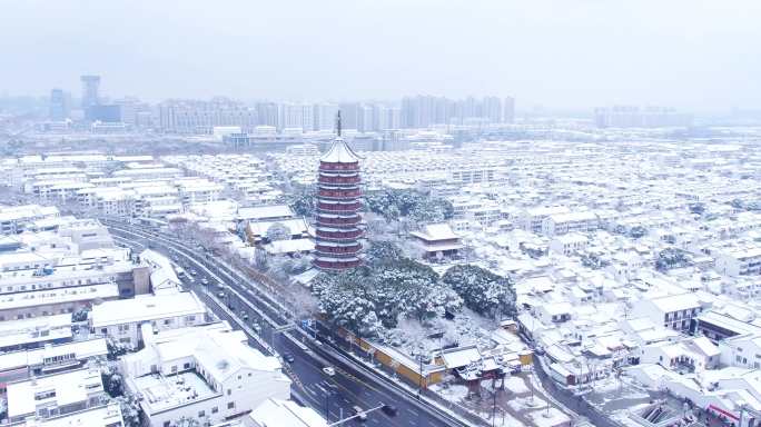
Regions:
[[[314,265],[323,270],[340,271],[362,264],[359,156],[338,136],[319,159],[317,178],[317,225]]]

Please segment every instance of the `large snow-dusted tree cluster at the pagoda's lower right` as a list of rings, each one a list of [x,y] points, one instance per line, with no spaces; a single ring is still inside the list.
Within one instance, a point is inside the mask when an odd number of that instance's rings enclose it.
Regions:
[[[360,336],[375,336],[402,319],[428,322],[459,311],[463,304],[490,317],[515,311],[511,281],[483,268],[455,266],[442,278],[388,241],[372,241],[366,260],[362,267],[323,274],[313,281],[328,318]]]

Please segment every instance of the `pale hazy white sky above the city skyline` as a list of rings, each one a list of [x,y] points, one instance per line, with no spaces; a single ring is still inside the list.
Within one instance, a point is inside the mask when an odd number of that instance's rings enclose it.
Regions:
[[[759,0],[0,0],[0,91],[761,107]]]

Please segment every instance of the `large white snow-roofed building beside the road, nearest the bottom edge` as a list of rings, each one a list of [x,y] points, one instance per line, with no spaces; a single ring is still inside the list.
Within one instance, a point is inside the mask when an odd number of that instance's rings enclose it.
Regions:
[[[142,396],[146,418],[159,427],[182,417],[220,423],[267,399],[288,399],[290,379],[279,360],[247,341],[229,325],[158,332],[146,339],[142,350],[121,359],[127,388]]]

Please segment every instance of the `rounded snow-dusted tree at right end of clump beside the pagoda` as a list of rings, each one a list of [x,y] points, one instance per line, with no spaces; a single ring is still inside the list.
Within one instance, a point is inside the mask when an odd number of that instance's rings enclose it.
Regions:
[[[463,298],[465,306],[483,316],[511,316],[515,312],[515,290],[505,277],[478,266],[465,265],[449,268],[442,280]]]

